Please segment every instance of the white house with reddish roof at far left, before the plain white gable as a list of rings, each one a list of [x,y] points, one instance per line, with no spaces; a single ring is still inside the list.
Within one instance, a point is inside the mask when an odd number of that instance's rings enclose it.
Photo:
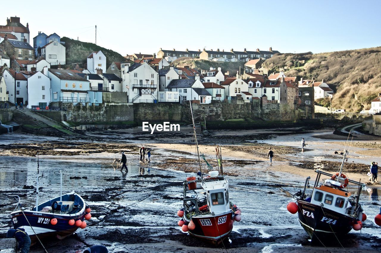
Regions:
[[[27,78],[20,72],[14,70],[5,70],[3,77],[6,84],[6,90],[9,92],[8,100],[12,103],[22,102],[28,104]]]

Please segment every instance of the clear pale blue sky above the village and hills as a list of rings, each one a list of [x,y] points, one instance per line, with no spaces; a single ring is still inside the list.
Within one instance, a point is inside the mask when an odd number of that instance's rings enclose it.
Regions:
[[[94,43],[97,25],[97,44],[122,55],[160,47],[319,53],[381,46],[378,0],[19,0],[1,7],[0,25],[18,16],[31,38],[56,32]]]

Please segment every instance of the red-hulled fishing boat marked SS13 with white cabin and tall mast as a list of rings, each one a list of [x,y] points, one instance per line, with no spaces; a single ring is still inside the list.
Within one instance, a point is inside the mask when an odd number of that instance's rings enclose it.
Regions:
[[[178,225],[191,236],[218,245],[227,239],[234,221],[241,220],[241,210],[229,200],[229,182],[223,174],[221,147],[216,147],[218,170],[202,173],[192,105],[191,113],[200,171],[197,178],[187,177],[182,184],[183,208],[177,213],[182,219]]]

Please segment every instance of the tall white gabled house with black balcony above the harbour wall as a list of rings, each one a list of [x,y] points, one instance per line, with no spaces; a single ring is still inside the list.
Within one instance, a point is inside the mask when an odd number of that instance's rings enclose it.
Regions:
[[[159,74],[147,62],[122,65],[123,92],[130,103],[157,101]]]

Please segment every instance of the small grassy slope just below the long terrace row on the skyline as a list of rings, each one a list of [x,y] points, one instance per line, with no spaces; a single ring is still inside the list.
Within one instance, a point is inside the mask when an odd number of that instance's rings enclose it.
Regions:
[[[243,73],[243,65],[244,62],[212,62],[207,60],[200,60],[190,57],[182,57],[173,61],[173,65],[175,67],[184,67],[190,66],[191,68],[195,68],[197,70],[209,70],[210,67],[218,68],[221,67],[223,73],[229,71],[229,74],[235,76],[237,71],[239,71],[239,67],[241,66],[241,74]]]

